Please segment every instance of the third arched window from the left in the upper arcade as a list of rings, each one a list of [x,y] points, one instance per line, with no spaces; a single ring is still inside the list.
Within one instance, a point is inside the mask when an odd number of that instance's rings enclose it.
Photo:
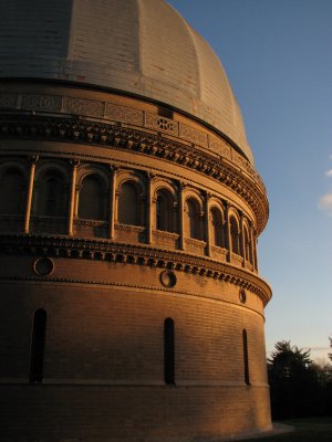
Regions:
[[[105,220],[106,192],[97,175],[89,175],[81,185],[79,198],[79,218],[85,220]]]

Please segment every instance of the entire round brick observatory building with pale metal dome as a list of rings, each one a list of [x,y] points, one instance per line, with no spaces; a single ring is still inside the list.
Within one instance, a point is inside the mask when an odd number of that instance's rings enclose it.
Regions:
[[[268,220],[220,61],[164,0],[0,0],[2,442],[271,428]]]

